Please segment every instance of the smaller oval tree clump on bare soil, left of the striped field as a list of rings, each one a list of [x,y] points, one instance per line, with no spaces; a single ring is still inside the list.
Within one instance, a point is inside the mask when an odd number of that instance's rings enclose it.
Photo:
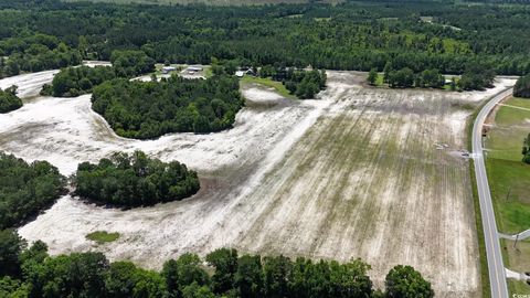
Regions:
[[[165,163],[141,151],[115,153],[97,164],[82,162],[74,177],[75,194],[117,206],[153,205],[182,200],[199,191],[197,172],[178,161]]]

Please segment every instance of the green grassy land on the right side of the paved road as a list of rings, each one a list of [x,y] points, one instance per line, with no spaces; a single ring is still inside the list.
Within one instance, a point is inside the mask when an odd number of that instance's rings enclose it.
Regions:
[[[530,166],[521,161],[522,140],[530,132],[530,100],[510,98],[496,111],[486,148],[486,166],[499,232],[516,234],[530,228]],[[502,240],[505,265],[518,273],[530,270],[530,242]],[[511,294],[530,294],[522,281],[509,284]]]

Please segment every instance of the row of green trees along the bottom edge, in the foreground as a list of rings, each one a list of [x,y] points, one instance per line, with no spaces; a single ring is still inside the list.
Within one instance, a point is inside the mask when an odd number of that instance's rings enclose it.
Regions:
[[[219,248],[203,259],[183,254],[161,272],[130,262],[110,263],[102,253],[50,256],[43,242],[30,247],[17,232],[0,232],[0,297],[117,298],[431,298],[431,284],[410,266],[395,266],[385,294],[373,290],[370,266],[360,259],[292,260],[239,255]]]

